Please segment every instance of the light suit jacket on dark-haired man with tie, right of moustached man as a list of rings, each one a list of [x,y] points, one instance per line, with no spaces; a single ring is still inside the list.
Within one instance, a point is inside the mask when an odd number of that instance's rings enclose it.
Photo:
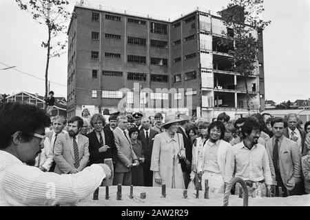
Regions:
[[[269,165],[273,183],[276,181],[276,172],[273,164],[273,138],[266,141],[266,150],[269,157]],[[279,150],[279,167],[283,183],[287,190],[293,190],[295,180],[300,179],[302,174],[301,154],[297,143],[287,137],[283,137]]]

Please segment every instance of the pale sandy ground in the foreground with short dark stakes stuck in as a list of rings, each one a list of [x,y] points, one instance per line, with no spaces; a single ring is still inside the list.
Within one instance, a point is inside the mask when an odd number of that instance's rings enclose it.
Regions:
[[[161,188],[134,187],[134,199],[130,199],[130,186],[122,187],[122,200],[116,200],[117,186],[109,187],[109,199],[105,199],[105,187],[99,188],[99,200],[93,200],[93,194],[80,201],[77,206],[223,206],[223,194],[209,193],[209,199],[204,199],[204,191],[187,190],[187,199],[183,198],[183,190],[166,189],[166,198],[161,197]],[[141,199],[140,193],[146,192],[146,198]],[[243,202],[236,195],[229,197],[229,206],[242,206]],[[291,197],[249,197],[249,206],[310,206],[310,194]]]

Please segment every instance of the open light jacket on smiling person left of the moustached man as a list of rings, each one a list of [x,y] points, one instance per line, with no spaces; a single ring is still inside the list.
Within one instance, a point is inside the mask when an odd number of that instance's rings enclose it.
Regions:
[[[203,149],[200,150],[200,154],[198,155],[197,172],[204,171],[203,166],[205,164],[205,149],[208,143],[209,140],[206,141]],[[228,183],[234,174],[234,153],[230,143],[220,140],[217,156],[220,173],[222,174],[225,183]]]

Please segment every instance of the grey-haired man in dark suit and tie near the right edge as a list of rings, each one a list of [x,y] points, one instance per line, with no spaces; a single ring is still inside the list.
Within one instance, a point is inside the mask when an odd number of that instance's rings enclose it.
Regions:
[[[304,148],[304,138],[306,137],[306,132],[297,128],[298,116],[297,114],[288,114],[285,119],[287,120],[288,128],[285,128],[284,135],[292,141],[296,141],[298,150],[302,156],[307,154],[307,149]]]

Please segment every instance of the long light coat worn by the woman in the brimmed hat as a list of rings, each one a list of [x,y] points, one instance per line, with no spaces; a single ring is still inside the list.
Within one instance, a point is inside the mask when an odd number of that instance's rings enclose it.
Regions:
[[[175,145],[177,145],[178,150],[174,153]],[[159,172],[161,184],[165,184],[167,188],[172,188],[173,172],[175,187],[178,189],[185,188],[183,172],[179,163],[179,152],[185,154],[182,134],[176,133],[174,139],[171,139],[167,132],[162,132],[154,137],[150,170]],[[173,157],[176,158],[174,166]],[[155,182],[155,175],[153,174],[153,186],[161,186],[161,184]]]

